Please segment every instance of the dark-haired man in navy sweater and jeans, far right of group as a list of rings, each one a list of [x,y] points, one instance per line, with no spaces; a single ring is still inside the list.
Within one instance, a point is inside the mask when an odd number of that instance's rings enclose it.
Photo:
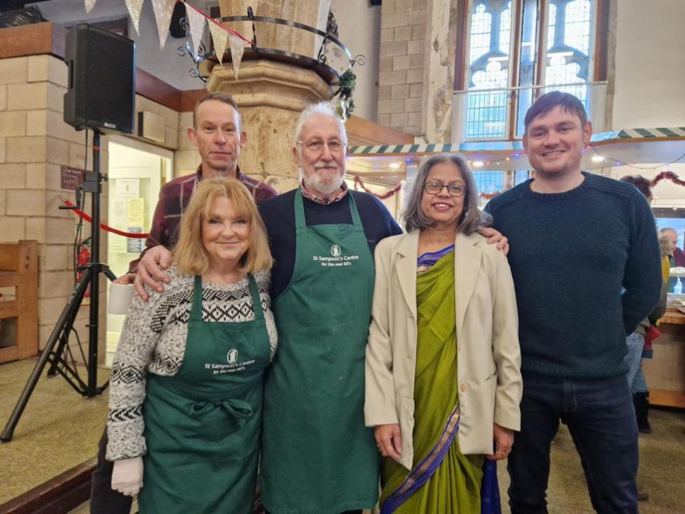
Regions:
[[[568,425],[600,513],[637,513],[638,430],[626,334],[659,301],[656,225],[629,183],[581,171],[591,124],[576,97],[531,106],[524,149],[535,177],[486,210],[511,244],[524,394],[507,468],[512,514],[546,513],[551,440]]]

